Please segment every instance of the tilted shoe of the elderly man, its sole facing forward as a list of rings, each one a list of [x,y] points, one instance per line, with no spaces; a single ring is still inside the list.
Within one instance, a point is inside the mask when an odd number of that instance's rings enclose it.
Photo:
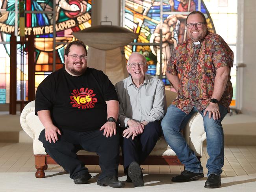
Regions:
[[[135,161],[131,162],[128,167],[128,176],[132,180],[134,186],[144,186],[143,174],[141,171],[141,167]]]

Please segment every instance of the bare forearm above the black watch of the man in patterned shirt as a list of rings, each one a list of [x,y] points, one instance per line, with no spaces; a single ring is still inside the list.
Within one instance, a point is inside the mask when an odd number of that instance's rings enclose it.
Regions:
[[[218,101],[221,99],[221,96],[223,95],[226,89],[228,76],[229,76],[228,66],[223,66],[217,69],[217,74],[215,76],[215,81],[214,81],[213,94],[211,98],[217,99]]]

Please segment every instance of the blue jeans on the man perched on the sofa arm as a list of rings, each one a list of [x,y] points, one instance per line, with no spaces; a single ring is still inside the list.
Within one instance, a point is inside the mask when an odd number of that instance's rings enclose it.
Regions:
[[[207,176],[210,174],[220,176],[222,173],[221,168],[224,165],[224,135],[221,121],[228,113],[228,110],[223,105],[219,105],[219,111],[221,118],[218,120],[214,120],[213,116],[209,119],[208,113],[206,116],[203,116],[204,110],[199,112],[204,120],[204,131],[207,137],[207,152],[209,155],[206,164],[208,168]],[[191,116],[197,112],[197,109],[194,107],[189,114],[186,114],[176,106],[170,105],[161,122],[161,126],[166,142],[185,165],[185,169],[194,173],[202,173],[201,162],[197,159],[194,151],[189,148],[180,132],[186,126]]]

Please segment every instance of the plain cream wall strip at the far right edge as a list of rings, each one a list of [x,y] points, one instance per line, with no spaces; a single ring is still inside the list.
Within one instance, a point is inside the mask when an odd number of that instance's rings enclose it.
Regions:
[[[256,113],[256,0],[244,0],[243,113]]]

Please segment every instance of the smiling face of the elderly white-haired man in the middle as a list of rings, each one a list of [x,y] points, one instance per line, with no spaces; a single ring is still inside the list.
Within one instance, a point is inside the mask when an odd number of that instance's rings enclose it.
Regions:
[[[146,63],[145,57],[140,53],[134,52],[130,55],[128,65],[126,66],[128,73],[131,74],[133,81],[144,81],[145,74],[148,70],[148,65],[143,67],[136,65],[134,68],[131,67],[131,63]]]

